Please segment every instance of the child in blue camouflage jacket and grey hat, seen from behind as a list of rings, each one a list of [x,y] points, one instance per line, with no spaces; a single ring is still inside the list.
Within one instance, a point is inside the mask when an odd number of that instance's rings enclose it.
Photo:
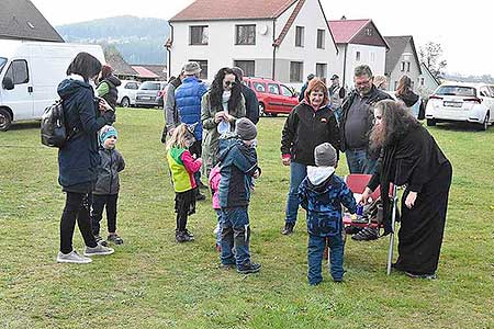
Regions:
[[[308,231],[308,283],[317,285],[323,281],[322,262],[329,246],[330,273],[335,282],[344,275],[344,247],[341,204],[353,214],[357,203],[344,180],[335,174],[337,154],[329,143],[314,149],[316,167],[307,167],[307,177],[299,188],[301,206],[307,212]]]

